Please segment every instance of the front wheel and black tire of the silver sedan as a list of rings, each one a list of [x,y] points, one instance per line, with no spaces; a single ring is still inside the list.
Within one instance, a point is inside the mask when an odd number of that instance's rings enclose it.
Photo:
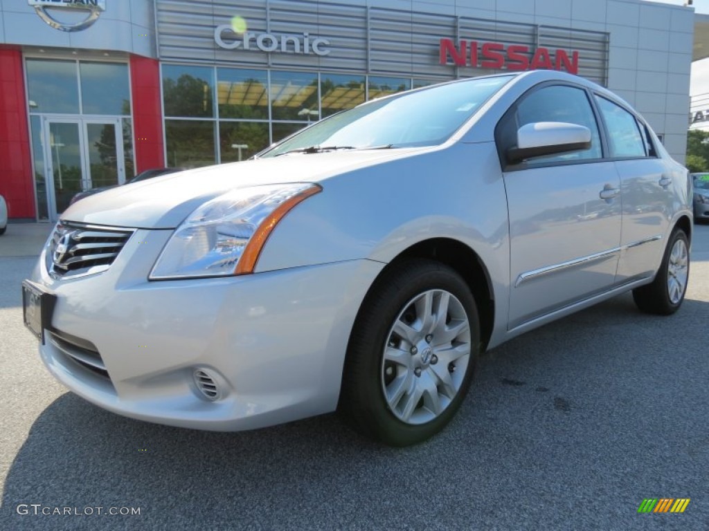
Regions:
[[[480,328],[475,300],[455,270],[423,259],[390,267],[354,322],[340,412],[360,433],[408,446],[438,433],[459,408]]]

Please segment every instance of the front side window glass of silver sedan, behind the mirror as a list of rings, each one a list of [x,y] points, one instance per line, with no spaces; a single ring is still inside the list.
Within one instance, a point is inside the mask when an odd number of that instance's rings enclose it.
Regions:
[[[532,164],[601,159],[601,137],[586,91],[572,86],[545,86],[523,98],[517,108],[517,127],[534,122],[567,122],[591,130],[591,148],[530,159]]]

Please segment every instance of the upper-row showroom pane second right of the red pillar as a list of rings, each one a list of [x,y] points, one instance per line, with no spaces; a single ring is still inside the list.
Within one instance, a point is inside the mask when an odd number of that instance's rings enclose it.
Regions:
[[[267,86],[263,70],[217,69],[219,117],[268,120]]]

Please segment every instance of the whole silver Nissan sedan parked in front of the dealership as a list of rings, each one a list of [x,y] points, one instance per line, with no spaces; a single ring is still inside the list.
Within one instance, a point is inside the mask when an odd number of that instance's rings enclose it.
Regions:
[[[675,312],[691,189],[601,86],[452,81],[75,203],[25,320],[57,379],[121,415],[242,430],[339,406],[409,445],[450,421],[486,348],[629,290]]]

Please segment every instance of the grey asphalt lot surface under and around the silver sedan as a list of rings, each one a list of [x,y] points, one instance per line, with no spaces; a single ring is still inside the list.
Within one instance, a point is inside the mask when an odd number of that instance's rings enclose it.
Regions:
[[[36,258],[18,254],[0,251],[0,530],[709,527],[709,225],[677,314],[623,295],[520,336],[406,449],[335,415],[208,433],[92,406],[38,358],[20,297]],[[645,498],[691,501],[637,513]]]

